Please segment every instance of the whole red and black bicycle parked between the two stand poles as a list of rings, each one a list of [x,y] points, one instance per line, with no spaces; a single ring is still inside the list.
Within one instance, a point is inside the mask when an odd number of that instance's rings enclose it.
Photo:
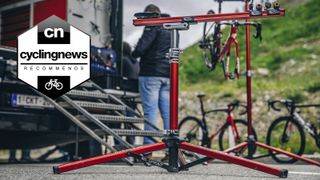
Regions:
[[[243,108],[247,108],[245,105],[240,104],[239,101],[234,101],[227,105],[227,107],[223,108],[215,108],[212,110],[206,111],[204,109],[203,98],[204,94],[197,95],[200,101],[200,110],[202,118],[198,119],[194,116],[187,116],[183,118],[179,123],[179,133],[180,137],[184,138],[187,142],[192,144],[205,146],[208,148],[212,148],[211,144],[214,138],[219,135],[219,148],[221,151],[226,150],[230,147],[233,147],[247,138],[247,121],[243,119],[234,119],[233,111],[239,106]],[[225,122],[219,126],[219,128],[209,134],[207,119],[206,116],[213,112],[225,112],[227,114],[227,118]],[[244,112],[239,113],[239,115],[243,115]],[[254,138],[257,139],[256,131],[253,129]],[[238,153],[238,152],[236,152]]]

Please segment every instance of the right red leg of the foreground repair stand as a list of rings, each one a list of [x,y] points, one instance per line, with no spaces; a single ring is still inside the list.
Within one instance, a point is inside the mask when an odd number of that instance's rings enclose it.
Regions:
[[[265,172],[267,174],[275,175],[278,177],[287,177],[287,174],[288,174],[288,171],[286,169],[275,168],[275,167],[265,165],[260,162],[255,162],[255,161],[244,159],[241,157],[232,156],[232,155],[226,154],[224,152],[214,151],[214,150],[207,149],[207,148],[204,148],[201,146],[195,146],[193,144],[189,144],[186,142],[182,142],[180,144],[180,148],[185,149],[187,151],[199,153],[204,156],[211,157],[213,159],[220,159],[223,161],[227,161],[227,162],[237,164],[240,166],[244,166],[244,167],[254,169],[257,171]]]

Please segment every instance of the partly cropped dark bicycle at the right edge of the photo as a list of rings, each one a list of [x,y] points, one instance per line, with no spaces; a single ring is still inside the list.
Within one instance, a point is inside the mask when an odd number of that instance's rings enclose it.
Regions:
[[[297,108],[320,107],[320,104],[296,104],[295,101],[290,99],[268,101],[269,109],[281,111],[276,106],[277,104],[284,105],[289,112],[289,116],[278,117],[271,123],[267,134],[267,144],[301,156],[306,145],[304,132],[306,130],[320,148],[320,133],[317,133],[316,126],[305,121],[297,111]],[[269,151],[269,154],[279,163],[294,163],[297,161],[287,156],[279,156],[272,151]]]

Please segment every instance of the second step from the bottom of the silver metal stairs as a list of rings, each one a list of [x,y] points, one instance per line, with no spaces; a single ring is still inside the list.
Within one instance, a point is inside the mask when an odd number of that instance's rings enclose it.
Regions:
[[[118,122],[118,123],[145,123],[145,120],[143,118],[137,118],[137,117],[125,117],[125,116],[112,116],[112,115],[102,115],[102,114],[92,114],[94,117],[99,119],[101,122]],[[77,116],[79,120],[81,121],[88,121],[85,116]]]

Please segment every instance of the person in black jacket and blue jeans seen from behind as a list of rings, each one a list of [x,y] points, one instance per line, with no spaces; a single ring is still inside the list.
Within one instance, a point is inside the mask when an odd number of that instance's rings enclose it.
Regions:
[[[161,14],[160,9],[150,4],[144,12]],[[140,57],[139,91],[145,118],[157,126],[158,109],[163,128],[169,129],[170,66],[166,53],[170,49],[170,31],[160,26],[145,27],[132,56]],[[145,130],[154,130],[145,125]],[[144,138],[144,144],[153,141]]]

